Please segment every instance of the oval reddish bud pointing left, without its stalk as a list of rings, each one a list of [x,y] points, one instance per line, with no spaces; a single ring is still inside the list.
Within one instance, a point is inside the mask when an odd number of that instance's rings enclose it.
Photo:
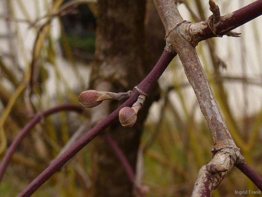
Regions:
[[[96,90],[87,90],[81,93],[78,101],[85,107],[95,107],[102,101],[96,101],[101,95]]]

